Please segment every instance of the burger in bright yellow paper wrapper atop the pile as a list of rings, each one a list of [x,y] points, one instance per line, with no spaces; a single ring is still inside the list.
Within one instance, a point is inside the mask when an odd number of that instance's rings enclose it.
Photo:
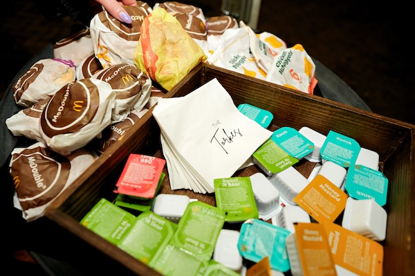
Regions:
[[[181,23],[163,8],[155,8],[145,18],[140,33],[134,63],[167,91],[208,59]]]

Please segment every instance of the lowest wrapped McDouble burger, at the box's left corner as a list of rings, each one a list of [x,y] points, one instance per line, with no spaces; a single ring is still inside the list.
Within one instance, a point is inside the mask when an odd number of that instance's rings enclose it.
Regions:
[[[70,186],[95,157],[80,148],[63,156],[37,142],[12,150],[9,171],[15,184],[13,205],[27,221],[42,217],[44,210]]]

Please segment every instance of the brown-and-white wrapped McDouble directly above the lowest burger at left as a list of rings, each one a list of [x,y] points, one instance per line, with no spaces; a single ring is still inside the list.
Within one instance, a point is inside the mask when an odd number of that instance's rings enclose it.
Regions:
[[[111,124],[116,92],[100,79],[80,79],[62,87],[40,117],[42,141],[68,155],[82,148]]]

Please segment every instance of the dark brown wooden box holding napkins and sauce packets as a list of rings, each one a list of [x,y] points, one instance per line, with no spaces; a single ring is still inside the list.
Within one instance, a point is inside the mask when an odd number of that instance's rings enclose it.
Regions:
[[[200,64],[165,97],[181,97],[211,79],[218,79],[227,90],[235,106],[250,103],[273,113],[275,130],[290,126],[299,130],[308,126],[327,135],[330,130],[358,141],[362,148],[378,152],[379,170],[389,179],[387,205],[387,235],[384,275],[413,275],[415,273],[415,126],[389,119],[373,112],[360,110],[322,97],[277,86],[273,83],[246,77],[236,72]],[[59,244],[65,257],[80,269],[103,270],[135,275],[160,275],[95,233],[84,228],[80,220],[102,198],[112,201],[113,188],[131,152],[163,157],[160,130],[156,120],[147,112],[75,180],[64,194],[46,209],[45,218],[53,231],[52,244]],[[208,166],[208,164],[207,164]],[[304,175],[311,165],[297,164]],[[259,171],[248,167],[235,175],[248,176]],[[167,174],[167,169],[164,171]],[[190,190],[172,191],[168,174],[160,193],[180,193],[208,204],[215,204],[214,195],[195,194]]]

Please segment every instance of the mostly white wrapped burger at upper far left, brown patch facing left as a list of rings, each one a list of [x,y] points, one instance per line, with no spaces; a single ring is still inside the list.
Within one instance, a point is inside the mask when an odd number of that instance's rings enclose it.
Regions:
[[[75,64],[64,59],[41,59],[17,79],[12,87],[19,106],[28,108],[48,99],[62,86],[75,81]]]

